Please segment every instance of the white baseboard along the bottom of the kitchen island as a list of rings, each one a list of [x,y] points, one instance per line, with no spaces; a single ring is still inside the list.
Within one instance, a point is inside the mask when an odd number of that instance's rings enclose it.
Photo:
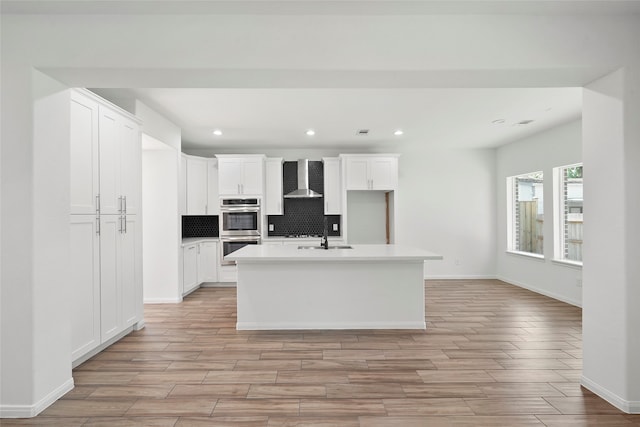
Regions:
[[[312,329],[426,329],[426,322],[238,322],[236,329],[239,331],[260,331],[260,330],[312,330]]]

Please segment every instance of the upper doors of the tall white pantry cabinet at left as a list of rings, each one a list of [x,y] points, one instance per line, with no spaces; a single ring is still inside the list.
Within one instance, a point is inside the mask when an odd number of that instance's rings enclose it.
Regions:
[[[116,108],[71,91],[71,214],[138,213],[140,125]]]

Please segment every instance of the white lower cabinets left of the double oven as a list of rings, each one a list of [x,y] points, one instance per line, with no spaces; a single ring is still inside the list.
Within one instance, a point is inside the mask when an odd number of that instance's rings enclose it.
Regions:
[[[218,242],[191,243],[182,248],[182,294],[205,282],[218,281]]]

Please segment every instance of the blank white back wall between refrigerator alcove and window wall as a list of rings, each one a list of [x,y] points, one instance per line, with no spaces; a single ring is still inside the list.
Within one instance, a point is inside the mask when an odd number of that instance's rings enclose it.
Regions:
[[[495,277],[495,150],[407,147],[399,168],[396,242],[444,256],[426,277]]]

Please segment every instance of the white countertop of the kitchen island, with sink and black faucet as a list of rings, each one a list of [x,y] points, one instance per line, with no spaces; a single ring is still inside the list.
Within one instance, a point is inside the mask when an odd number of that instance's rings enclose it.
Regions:
[[[298,249],[295,245],[247,245],[226,256],[242,263],[273,261],[426,261],[442,255],[402,245],[350,245],[353,249]],[[331,247],[331,243],[329,244]]]

